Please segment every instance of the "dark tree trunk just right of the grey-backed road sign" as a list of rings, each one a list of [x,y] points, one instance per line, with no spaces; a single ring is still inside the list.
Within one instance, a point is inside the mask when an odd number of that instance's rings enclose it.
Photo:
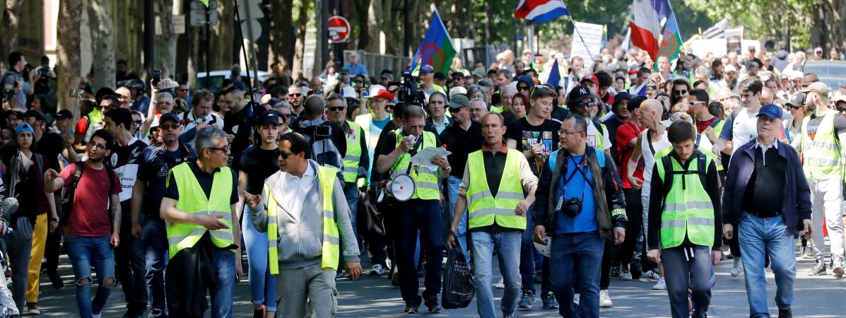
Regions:
[[[294,0],[271,0],[269,63],[290,69],[294,63]]]

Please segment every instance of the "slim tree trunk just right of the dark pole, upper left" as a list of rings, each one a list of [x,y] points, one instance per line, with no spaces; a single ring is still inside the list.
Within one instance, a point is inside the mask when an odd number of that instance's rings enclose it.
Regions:
[[[162,70],[162,79],[176,78],[176,34],[173,31],[173,0],[157,0],[158,24],[162,34],[156,36],[154,69]]]

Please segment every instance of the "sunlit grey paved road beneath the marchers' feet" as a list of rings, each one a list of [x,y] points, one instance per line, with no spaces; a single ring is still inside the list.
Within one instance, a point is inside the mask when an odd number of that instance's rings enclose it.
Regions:
[[[42,316],[75,317],[76,306],[74,300],[73,281],[67,258],[63,256],[61,274],[68,286],[63,289],[53,289],[46,276],[41,279],[41,310]],[[364,264],[369,268],[369,264]],[[832,277],[809,277],[805,271],[812,266],[811,260],[799,258],[798,275],[794,292],[794,315],[797,317],[844,317],[846,316],[846,279]],[[717,266],[717,286],[713,288],[711,309],[708,314],[712,317],[743,317],[748,316],[748,304],[743,277],[731,277],[728,271],[731,260],[723,260]],[[244,266],[245,268],[245,266]],[[497,272],[497,271],[495,271]],[[830,271],[829,271],[830,272]],[[498,277],[497,277],[498,279]],[[775,295],[775,283],[772,273],[767,274],[767,292],[771,310],[777,314],[772,299]],[[422,283],[420,284],[422,286]],[[611,297],[614,307],[602,309],[602,316],[614,317],[653,317],[669,316],[667,293],[651,290],[651,282],[623,282],[612,278]],[[537,286],[540,290],[540,286]],[[235,317],[251,317],[250,289],[246,282],[237,286],[235,299]],[[404,303],[399,295],[399,288],[391,286],[386,277],[367,276],[357,282],[349,279],[338,281],[339,317],[393,317],[399,316],[404,309]],[[502,297],[503,289],[494,289],[494,296]],[[425,306],[420,307],[426,310]],[[115,288],[103,311],[103,317],[119,317],[124,313],[124,295],[121,289]],[[518,316],[552,317],[557,310],[542,310],[538,300],[532,310],[519,310]],[[460,310],[444,310],[436,317],[472,317],[476,316],[475,301],[468,308]]]

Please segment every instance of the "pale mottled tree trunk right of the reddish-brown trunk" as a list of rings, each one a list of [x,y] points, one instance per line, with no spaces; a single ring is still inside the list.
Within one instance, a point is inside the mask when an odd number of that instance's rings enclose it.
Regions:
[[[114,25],[112,23],[112,2],[91,0],[88,3],[88,19],[91,21],[91,89],[115,88]]]

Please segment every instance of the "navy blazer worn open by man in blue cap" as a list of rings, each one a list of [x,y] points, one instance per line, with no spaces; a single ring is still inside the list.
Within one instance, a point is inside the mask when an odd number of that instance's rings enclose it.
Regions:
[[[784,172],[785,187],[782,201],[782,215],[787,225],[788,233],[794,234],[794,229],[804,229],[802,220],[810,220],[810,188],[805,178],[802,163],[796,150],[779,140],[778,156],[787,159],[787,169]],[[743,197],[746,185],[755,170],[755,140],[741,146],[732,155],[726,173],[726,188],[722,195],[722,222],[733,224],[737,230],[737,222],[742,211]]]

